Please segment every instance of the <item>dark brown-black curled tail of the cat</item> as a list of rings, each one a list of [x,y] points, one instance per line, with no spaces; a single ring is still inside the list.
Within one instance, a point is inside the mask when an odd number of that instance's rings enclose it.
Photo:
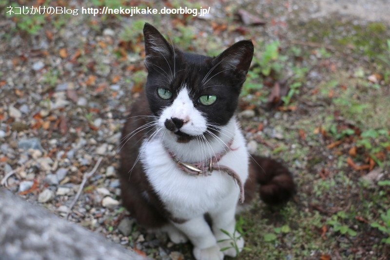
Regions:
[[[280,162],[271,158],[252,155],[249,163],[249,178],[245,183],[245,197],[252,200],[260,183],[260,198],[266,204],[283,204],[290,200],[295,190],[291,172]]]

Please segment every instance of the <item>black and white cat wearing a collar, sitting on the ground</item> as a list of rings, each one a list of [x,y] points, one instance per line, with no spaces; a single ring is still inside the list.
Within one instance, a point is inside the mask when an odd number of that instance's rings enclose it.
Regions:
[[[123,205],[141,226],[167,232],[174,243],[190,240],[196,260],[235,257],[225,233],[243,248],[235,214],[256,184],[268,204],[295,192],[286,167],[249,155],[235,116],[254,45],[241,40],[207,57],[176,49],[149,23],[143,34],[148,76],[122,132]]]

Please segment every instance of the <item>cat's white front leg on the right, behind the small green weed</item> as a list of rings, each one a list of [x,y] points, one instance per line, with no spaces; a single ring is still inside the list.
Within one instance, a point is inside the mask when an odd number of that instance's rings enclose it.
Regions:
[[[244,239],[241,234],[235,230],[235,201],[237,200],[224,203],[224,207],[210,212],[215,239],[220,241],[218,242],[218,246],[221,249],[224,248],[223,253],[230,257],[236,257],[237,250],[238,252],[241,252],[244,247]],[[234,239],[232,240],[226,233]],[[232,246],[232,242],[234,246]]]

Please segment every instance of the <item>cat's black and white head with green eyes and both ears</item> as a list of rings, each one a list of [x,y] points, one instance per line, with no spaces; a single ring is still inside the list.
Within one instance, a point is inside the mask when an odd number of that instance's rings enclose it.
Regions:
[[[159,125],[177,142],[217,133],[237,108],[251,65],[252,41],[234,43],[216,57],[183,53],[146,23],[146,95]]]

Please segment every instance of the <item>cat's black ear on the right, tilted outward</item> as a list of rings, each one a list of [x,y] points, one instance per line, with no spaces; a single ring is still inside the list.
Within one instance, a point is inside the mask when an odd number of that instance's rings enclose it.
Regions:
[[[253,58],[254,46],[251,40],[240,40],[215,57],[215,65],[227,73],[233,73],[243,83]]]

